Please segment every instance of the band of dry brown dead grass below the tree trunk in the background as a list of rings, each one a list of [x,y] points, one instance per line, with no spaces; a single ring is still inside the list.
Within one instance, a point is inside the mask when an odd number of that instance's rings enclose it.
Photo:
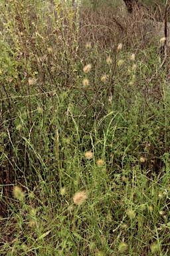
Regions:
[[[163,11],[159,11],[159,21],[161,16],[163,19]],[[131,15],[124,5],[116,9],[83,7],[80,9],[79,25],[82,47],[86,42],[92,42],[100,49],[110,49],[124,42],[124,46],[145,49],[164,36],[164,23],[157,22],[157,13],[145,7],[140,10],[136,7]],[[169,27],[168,23],[168,30]]]

